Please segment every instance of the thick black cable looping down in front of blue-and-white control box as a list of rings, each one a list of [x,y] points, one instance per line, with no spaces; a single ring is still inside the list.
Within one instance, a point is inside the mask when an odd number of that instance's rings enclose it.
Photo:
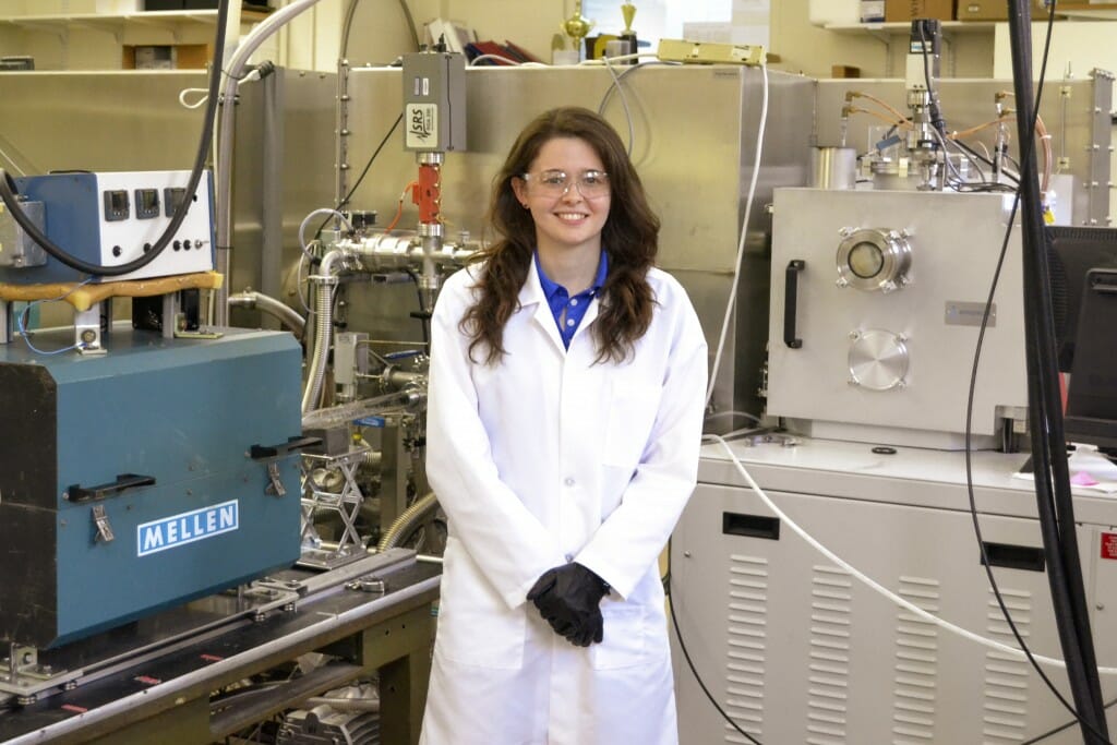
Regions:
[[[170,225],[166,226],[166,229],[163,231],[163,235],[159,237],[159,240],[155,241],[155,245],[152,246],[150,251],[140,258],[117,266],[89,264],[88,261],[84,261],[75,256],[70,256],[65,249],[47,238],[47,236],[39,230],[38,226],[36,226],[31,219],[27,217],[27,213],[19,204],[19,198],[16,195],[15,182],[3,169],[0,169],[0,200],[2,200],[8,207],[8,210],[11,212],[11,217],[16,220],[16,222],[19,223],[31,240],[42,247],[42,250],[61,264],[71,269],[76,269],[82,274],[94,275],[96,277],[120,277],[121,275],[131,274],[132,271],[136,271],[137,269],[142,269],[147,266],[159,258],[159,255],[162,254],[163,249],[168,247],[171,239],[182,226],[182,221],[187,218],[187,211],[189,210],[191,202],[190,197],[197,192],[198,183],[201,181],[202,171],[206,168],[206,157],[209,154],[210,140],[213,135],[213,120],[217,114],[218,92],[221,85],[221,67],[223,61],[221,56],[225,51],[225,37],[228,18],[229,0],[220,0],[217,13],[217,38],[213,40],[213,61],[210,69],[209,99],[206,103],[206,118],[202,123],[202,134],[198,143],[198,155],[194,157],[193,170],[190,173],[190,181],[187,184],[185,193],[188,194],[188,198],[183,199],[174,210],[174,216],[171,218]]]

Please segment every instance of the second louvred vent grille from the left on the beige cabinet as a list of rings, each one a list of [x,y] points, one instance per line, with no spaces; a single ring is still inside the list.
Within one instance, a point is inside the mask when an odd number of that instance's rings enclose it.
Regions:
[[[852,580],[836,566],[813,570],[805,742],[843,745],[849,705]]]

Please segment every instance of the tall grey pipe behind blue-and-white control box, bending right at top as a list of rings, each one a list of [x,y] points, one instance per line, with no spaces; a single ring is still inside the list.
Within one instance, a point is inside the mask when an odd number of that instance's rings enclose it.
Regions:
[[[237,123],[237,88],[245,71],[249,57],[265,40],[286,26],[293,18],[307,10],[318,0],[295,0],[289,6],[275,11],[244,38],[237,51],[225,69],[225,87],[221,90],[222,105],[217,128],[217,147],[214,152],[214,170],[217,171],[217,193],[213,195],[213,208],[217,211],[217,270],[226,277],[217,289],[217,303],[211,322],[217,326],[229,324],[229,267],[232,249],[232,143]]]

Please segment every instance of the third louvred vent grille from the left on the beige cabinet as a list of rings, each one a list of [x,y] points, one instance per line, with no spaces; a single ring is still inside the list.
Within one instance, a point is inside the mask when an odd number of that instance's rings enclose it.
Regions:
[[[916,608],[938,615],[942,594],[937,580],[901,576],[897,594]],[[905,608],[898,609],[892,745],[935,742],[938,655],[938,627]]]

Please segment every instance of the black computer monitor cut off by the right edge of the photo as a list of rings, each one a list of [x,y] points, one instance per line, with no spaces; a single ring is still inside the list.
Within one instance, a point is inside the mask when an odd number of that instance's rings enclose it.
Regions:
[[[1067,439],[1117,448],[1117,229],[1050,226],[1047,238]]]

